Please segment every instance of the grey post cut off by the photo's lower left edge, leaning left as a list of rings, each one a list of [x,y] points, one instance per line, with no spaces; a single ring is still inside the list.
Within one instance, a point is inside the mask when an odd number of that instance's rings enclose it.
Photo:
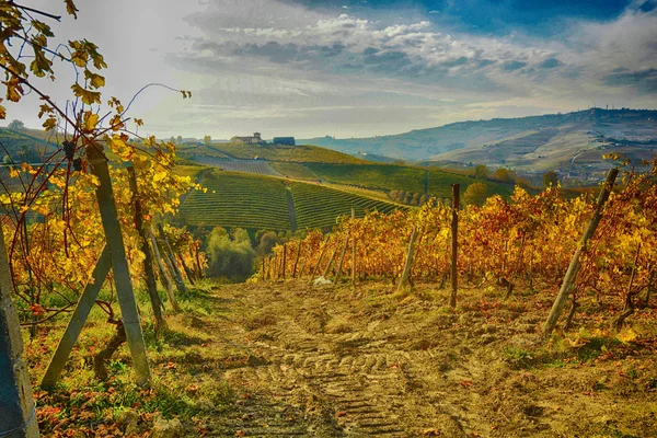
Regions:
[[[0,436],[38,437],[36,406],[23,359],[23,336],[0,221]]]

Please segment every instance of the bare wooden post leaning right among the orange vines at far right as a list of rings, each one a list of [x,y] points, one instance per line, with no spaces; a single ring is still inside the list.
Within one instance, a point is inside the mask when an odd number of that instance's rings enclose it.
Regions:
[[[581,253],[585,253],[588,249],[588,243],[592,239],[600,220],[602,219],[602,208],[609,199],[609,194],[613,188],[613,183],[619,174],[619,170],[616,168],[609,171],[607,174],[607,180],[604,181],[604,185],[600,189],[600,196],[598,196],[598,204],[596,205],[596,211],[593,212],[593,217],[591,218],[588,228],[586,229],[577,250],[575,250],[575,254],[573,254],[573,258],[570,260],[570,265],[568,266],[568,270],[566,272],[566,276],[564,277],[564,281],[562,283],[562,287],[554,300],[554,304],[552,304],[552,310],[550,311],[550,315],[543,324],[543,336],[548,337],[554,330],[558,316],[561,316],[562,311],[564,310],[564,304],[568,299],[573,290],[573,286],[575,285],[575,280],[577,279],[577,273],[579,270],[579,256]]]

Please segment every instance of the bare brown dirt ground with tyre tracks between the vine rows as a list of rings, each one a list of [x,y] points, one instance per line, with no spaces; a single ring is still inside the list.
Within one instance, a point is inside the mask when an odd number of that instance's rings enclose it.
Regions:
[[[300,281],[216,290],[212,316],[194,322],[214,334],[205,378],[224,379],[238,403],[212,416],[209,435],[657,436],[652,348],[585,355],[592,343],[564,338],[572,350],[543,357],[548,298],[463,291],[451,313],[447,291],[391,291]]]

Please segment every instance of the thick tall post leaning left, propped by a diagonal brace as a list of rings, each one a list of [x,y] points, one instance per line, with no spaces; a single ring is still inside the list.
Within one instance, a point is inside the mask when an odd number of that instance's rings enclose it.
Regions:
[[[150,368],[146,355],[146,344],[143,343],[143,333],[139,321],[139,311],[135,301],[135,291],[132,280],[130,279],[130,269],[126,258],[126,247],[120,233],[120,224],[116,214],[116,204],[112,192],[112,181],[110,180],[110,169],[107,168],[107,158],[103,154],[103,146],[93,143],[87,147],[87,157],[91,166],[91,172],[99,178],[96,197],[101,210],[101,220],[103,230],[107,239],[107,245],[112,254],[112,270],[114,273],[114,283],[116,284],[116,293],[118,304],[123,316],[124,328],[126,331],[126,341],[130,347],[130,355],[135,364],[137,384],[150,384]]]

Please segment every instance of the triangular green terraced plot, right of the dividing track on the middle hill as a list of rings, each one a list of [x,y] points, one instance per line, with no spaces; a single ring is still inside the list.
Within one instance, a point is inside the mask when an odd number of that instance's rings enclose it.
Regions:
[[[357,217],[364,216],[366,210],[390,212],[399,208],[394,204],[314,184],[293,182],[290,187],[299,228],[323,228],[335,224],[335,219],[338,216],[349,215],[351,208],[356,210]]]

